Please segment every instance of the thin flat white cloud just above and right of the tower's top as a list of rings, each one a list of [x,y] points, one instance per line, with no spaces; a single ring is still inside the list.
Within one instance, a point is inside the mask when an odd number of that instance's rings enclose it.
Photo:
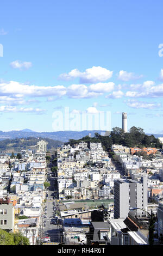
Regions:
[[[143,101],[135,101],[135,100],[128,100],[127,105],[129,107],[133,108],[146,108],[146,109],[153,109],[153,108],[158,108],[161,107],[160,103],[148,103],[148,102],[143,102]]]

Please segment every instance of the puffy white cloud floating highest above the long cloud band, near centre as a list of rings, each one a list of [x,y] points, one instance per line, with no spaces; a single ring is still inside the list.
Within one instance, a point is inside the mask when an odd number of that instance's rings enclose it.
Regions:
[[[68,74],[61,74],[59,78],[66,81],[80,78],[80,83],[97,83],[104,82],[111,78],[112,72],[113,71],[102,68],[101,66],[92,66],[92,68],[86,69],[84,72],[73,69]]]

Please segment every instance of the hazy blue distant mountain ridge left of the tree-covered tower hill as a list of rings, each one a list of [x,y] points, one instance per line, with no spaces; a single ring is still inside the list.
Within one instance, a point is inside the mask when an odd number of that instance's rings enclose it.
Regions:
[[[27,138],[27,137],[35,137],[35,138],[50,138],[57,141],[68,142],[69,139],[80,139],[86,135],[91,133],[93,137],[95,132],[101,134],[101,132],[105,131],[58,131],[58,132],[36,132],[30,129],[24,129],[20,131],[0,131],[0,140],[2,139],[16,139],[16,138]]]

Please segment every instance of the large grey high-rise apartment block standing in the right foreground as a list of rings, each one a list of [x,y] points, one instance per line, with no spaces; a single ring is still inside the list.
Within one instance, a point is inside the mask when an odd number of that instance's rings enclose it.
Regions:
[[[114,218],[126,218],[129,208],[147,210],[147,175],[143,175],[141,182],[130,179],[114,181]],[[141,210],[136,210],[142,212]]]

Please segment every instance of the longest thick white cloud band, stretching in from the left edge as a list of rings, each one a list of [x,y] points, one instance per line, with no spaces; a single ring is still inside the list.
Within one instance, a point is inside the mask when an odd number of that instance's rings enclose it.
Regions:
[[[67,88],[64,86],[35,86],[16,81],[0,83],[0,96],[17,97],[48,97],[48,101],[53,101],[53,97],[67,95],[71,98],[89,98],[103,95],[114,88],[114,83],[97,83],[85,86],[85,84],[72,84]]]

